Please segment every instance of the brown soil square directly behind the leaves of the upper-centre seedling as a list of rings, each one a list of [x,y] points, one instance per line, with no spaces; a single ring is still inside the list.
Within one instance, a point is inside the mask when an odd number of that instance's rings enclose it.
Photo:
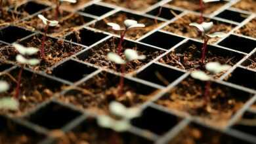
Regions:
[[[156,29],[156,27],[160,26],[161,24],[160,22],[156,24],[155,20],[151,18],[146,18],[144,16],[130,14],[127,12],[117,12],[116,14],[113,14],[111,16],[108,16],[107,18],[104,18],[104,20],[100,20],[96,22],[95,24],[91,25],[91,27],[95,27],[96,29],[100,29],[102,31],[108,31],[110,33],[115,33],[119,35],[119,31],[114,31],[112,27],[108,26],[106,23],[114,22],[124,27],[123,22],[127,19],[137,20],[138,23],[144,24],[146,26],[146,27],[134,28],[127,31],[125,37],[133,40],[139,39],[140,37],[142,37],[142,35],[148,33],[149,31],[152,31],[153,29]]]

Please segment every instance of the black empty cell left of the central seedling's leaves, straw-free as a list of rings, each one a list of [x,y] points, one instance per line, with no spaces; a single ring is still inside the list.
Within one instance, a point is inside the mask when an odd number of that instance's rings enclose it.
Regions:
[[[68,60],[53,69],[53,75],[70,82],[76,82],[96,71],[96,68]]]

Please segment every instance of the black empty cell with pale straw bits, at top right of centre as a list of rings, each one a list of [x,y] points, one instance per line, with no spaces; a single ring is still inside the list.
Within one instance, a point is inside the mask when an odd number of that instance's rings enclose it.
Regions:
[[[147,14],[150,14],[152,16],[157,16],[160,18],[165,18],[167,20],[171,20],[172,18],[175,18],[175,16],[181,14],[181,11],[169,9],[166,7],[157,7],[156,9],[153,9],[147,12]]]

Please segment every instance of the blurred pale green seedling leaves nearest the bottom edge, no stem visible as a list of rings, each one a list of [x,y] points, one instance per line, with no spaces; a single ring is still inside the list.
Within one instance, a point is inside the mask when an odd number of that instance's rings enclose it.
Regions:
[[[132,118],[139,117],[141,115],[140,109],[137,107],[127,108],[117,101],[112,101],[109,106],[110,113],[119,120],[106,115],[100,115],[97,117],[97,123],[103,128],[111,128],[116,132],[124,132],[131,127],[130,121]]]

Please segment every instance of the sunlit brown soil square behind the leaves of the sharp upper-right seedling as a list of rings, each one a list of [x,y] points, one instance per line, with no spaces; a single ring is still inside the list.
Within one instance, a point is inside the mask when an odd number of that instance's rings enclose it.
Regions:
[[[189,26],[190,23],[192,22],[199,22],[200,16],[196,16],[194,14],[187,14],[185,16],[182,16],[182,18],[179,18],[179,20],[175,20],[175,22],[172,22],[168,26],[163,27],[163,30],[169,31],[171,33],[176,33],[177,35],[182,35],[185,37],[190,37],[190,38],[196,38],[196,39],[201,39],[199,37],[199,33],[195,27]],[[209,18],[205,18],[205,22],[210,22],[212,21]],[[224,22],[219,22],[219,21],[213,21],[214,26],[209,31],[209,33],[215,33],[215,32],[224,32],[228,33],[234,26],[231,24],[227,24]],[[219,38],[213,38],[209,40],[209,43],[215,43],[218,41]]]

